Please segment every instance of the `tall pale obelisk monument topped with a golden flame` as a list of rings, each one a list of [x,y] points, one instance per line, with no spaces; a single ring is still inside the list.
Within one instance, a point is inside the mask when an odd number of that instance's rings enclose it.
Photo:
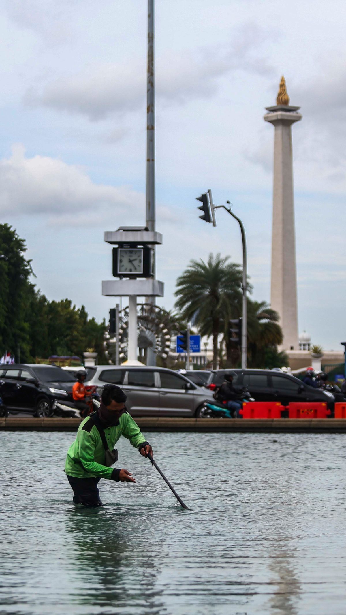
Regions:
[[[275,127],[270,304],[280,315],[282,349],[299,350],[291,125],[302,116],[289,106],[284,77],[277,105],[266,109],[264,119]]]

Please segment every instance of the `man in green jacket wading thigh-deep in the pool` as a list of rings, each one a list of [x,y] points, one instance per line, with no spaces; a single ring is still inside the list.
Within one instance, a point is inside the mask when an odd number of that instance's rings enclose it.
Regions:
[[[151,445],[125,410],[125,402],[126,395],[119,386],[106,384],[100,408],[79,426],[77,438],[69,447],[65,465],[75,504],[103,506],[97,488],[101,478],[136,482],[128,470],[110,467],[118,459],[113,446],[120,435],[128,438],[144,457],[152,455]]]

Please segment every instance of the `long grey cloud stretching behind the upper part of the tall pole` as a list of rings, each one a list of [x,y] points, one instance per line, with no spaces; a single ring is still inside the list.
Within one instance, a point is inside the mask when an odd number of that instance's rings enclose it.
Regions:
[[[184,50],[157,61],[157,98],[165,103],[184,104],[213,97],[218,80],[232,71],[260,76],[274,75],[272,65],[261,56],[261,47],[272,38],[270,31],[245,23],[232,33],[232,43]],[[58,111],[87,116],[90,121],[110,114],[123,116],[144,106],[146,75],[143,64],[104,63],[78,74],[59,77],[45,85],[42,93],[28,90],[25,102]]]

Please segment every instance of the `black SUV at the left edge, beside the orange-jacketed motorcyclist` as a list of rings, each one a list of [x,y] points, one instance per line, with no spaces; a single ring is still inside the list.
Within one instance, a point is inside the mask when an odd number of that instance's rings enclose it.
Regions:
[[[52,416],[57,400],[71,399],[75,382],[76,378],[55,365],[0,365],[2,414],[14,410]]]

